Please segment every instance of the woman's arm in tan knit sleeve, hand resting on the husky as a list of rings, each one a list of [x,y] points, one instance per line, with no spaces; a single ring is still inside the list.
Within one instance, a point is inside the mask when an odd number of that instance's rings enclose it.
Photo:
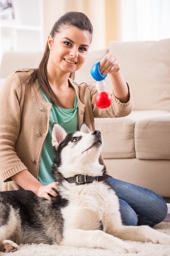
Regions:
[[[14,180],[20,187],[33,191],[41,198],[50,199],[50,195],[57,196],[53,190],[56,182],[43,186],[29,171],[17,154],[16,142],[20,135],[21,123],[26,126],[27,122],[21,119],[21,81],[18,72],[13,72],[7,78],[4,88],[0,92],[0,174],[4,182]],[[27,79],[29,79],[29,74]],[[26,79],[25,79],[26,83]],[[28,88],[28,86],[23,88]],[[23,97],[23,96],[22,96]],[[25,118],[25,115],[24,115]],[[23,128],[23,127],[22,127]],[[20,147],[28,148],[24,140]]]

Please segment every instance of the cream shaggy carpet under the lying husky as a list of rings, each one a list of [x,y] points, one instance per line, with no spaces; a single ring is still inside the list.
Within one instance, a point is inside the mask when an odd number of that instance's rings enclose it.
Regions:
[[[170,222],[161,222],[155,229],[170,235]],[[140,243],[127,241],[139,249],[138,254],[118,254],[103,249],[87,249],[57,245],[20,245],[20,250],[13,253],[0,253],[1,256],[170,256],[170,245],[155,245],[153,243]]]

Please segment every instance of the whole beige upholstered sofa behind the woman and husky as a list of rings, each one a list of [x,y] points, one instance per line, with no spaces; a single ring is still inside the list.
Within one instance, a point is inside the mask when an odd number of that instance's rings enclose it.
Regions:
[[[144,42],[110,42],[108,49],[91,49],[76,72],[75,81],[94,81],[91,66],[111,52],[118,56],[121,73],[134,99],[131,115],[96,119],[104,138],[102,155],[111,176],[131,182],[170,199],[170,39]],[[41,52],[4,54],[3,79],[17,68],[37,67]],[[110,78],[106,78],[111,90]]]

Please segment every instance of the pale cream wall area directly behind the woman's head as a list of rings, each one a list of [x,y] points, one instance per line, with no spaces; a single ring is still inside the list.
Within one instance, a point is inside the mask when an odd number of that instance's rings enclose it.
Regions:
[[[81,11],[91,20],[94,36],[91,48],[105,47],[105,0],[43,0],[44,44],[57,19],[67,11]]]

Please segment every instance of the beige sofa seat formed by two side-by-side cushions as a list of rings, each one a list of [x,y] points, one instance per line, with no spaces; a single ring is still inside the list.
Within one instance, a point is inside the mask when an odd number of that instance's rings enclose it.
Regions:
[[[170,159],[170,111],[134,110],[128,117],[95,119],[106,159]]]

